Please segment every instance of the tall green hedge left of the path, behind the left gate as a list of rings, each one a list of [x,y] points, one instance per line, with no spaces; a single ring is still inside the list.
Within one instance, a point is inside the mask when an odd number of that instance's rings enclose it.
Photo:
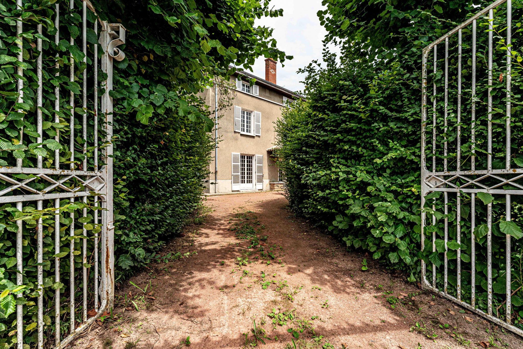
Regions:
[[[60,28],[54,27],[57,3],[60,5]],[[84,3],[97,13],[87,11],[86,63],[83,62],[81,30]],[[78,133],[75,133],[74,145],[80,151],[73,154],[57,143],[54,136],[59,129],[60,143],[69,143],[72,115],[69,96],[72,92],[76,114],[74,127],[82,129],[81,116],[88,114],[87,141],[92,144],[92,58],[98,40],[93,25],[100,19],[126,27],[126,44],[119,47],[126,53],[126,59],[115,62],[114,91],[110,92],[115,105],[113,160],[118,278],[155,258],[160,247],[180,231],[200,204],[202,180],[207,176],[212,147],[209,131],[213,122],[209,118],[209,107],[197,93],[211,87],[216,77],[228,78],[235,71],[229,68],[231,65],[250,69],[259,55],[279,61],[289,58],[276,48],[270,28],[254,26],[256,18],[280,16],[282,10],[269,7],[268,0],[74,0],[74,9],[69,7],[69,0],[23,0],[21,9],[17,9],[15,1],[0,0],[0,166],[14,166],[16,159],[22,159],[22,166],[36,167],[36,157],[41,155],[43,166],[53,167],[54,150],[59,151],[61,168],[69,166],[67,160],[72,155],[76,169],[85,156],[88,164],[93,164],[92,149],[86,155],[82,154],[85,140],[77,137]],[[23,32],[17,37],[16,24],[20,20]],[[42,25],[41,35],[36,31],[38,24]],[[57,29],[60,29],[59,44],[54,43]],[[70,37],[73,44],[69,43]],[[43,40],[41,52],[37,49],[38,38]],[[18,43],[22,45],[21,50]],[[19,53],[24,62],[17,60]],[[100,58],[103,52],[98,50],[98,54]],[[43,60],[43,106],[40,110],[46,125],[41,135],[36,132],[39,85],[36,65],[40,55]],[[55,66],[57,57],[59,65]],[[71,65],[74,66],[72,82],[69,81]],[[17,103],[17,67],[24,69],[23,103]],[[99,70],[98,81],[104,81],[105,77]],[[84,79],[88,86],[86,110],[81,107],[80,89]],[[54,86],[60,86],[60,110],[56,112]],[[100,88],[98,92],[100,97],[103,91]],[[61,118],[61,123],[54,123],[54,114]],[[103,134],[102,127],[100,120],[100,134]],[[24,138],[20,144],[22,129]],[[43,144],[36,143],[40,136]],[[15,174],[14,177],[31,178],[28,186],[35,189],[44,187],[43,180],[33,175]],[[0,190],[10,185],[8,181],[0,180]],[[77,183],[67,185],[74,187]],[[86,241],[88,261],[93,261],[94,233],[100,231],[94,224],[94,206],[92,201],[85,207],[83,202],[71,205],[68,200],[62,200],[61,205],[60,253],[56,255],[52,202],[44,202],[43,208],[48,210],[44,213],[36,210],[36,202],[31,201],[24,203],[23,212],[11,204],[0,207],[0,347],[16,345],[16,304],[24,305],[24,343],[36,345],[39,290],[44,296],[44,342],[47,346],[51,346],[55,336],[51,320],[54,318],[55,289],[61,290],[62,336],[69,333],[72,321],[81,323],[86,310],[82,309],[82,267],[89,274],[87,310],[93,307],[94,268],[92,264],[83,263],[81,250],[82,242]],[[84,207],[89,212],[86,218],[82,217]],[[75,223],[71,214],[76,218]],[[43,263],[37,266],[35,228],[42,215]],[[15,222],[22,216],[23,280],[22,285],[17,286],[17,258],[14,255],[18,227]],[[75,225],[71,227],[72,224]],[[68,228],[82,232],[87,226],[92,228],[86,228],[87,238],[84,235],[66,236]],[[69,258],[64,258],[70,253],[69,239],[74,246],[75,275],[69,274]],[[61,258],[60,282],[54,282],[55,257]],[[43,269],[42,285],[37,284],[37,267]],[[71,277],[76,281],[73,313],[69,308],[72,300],[68,280]]]

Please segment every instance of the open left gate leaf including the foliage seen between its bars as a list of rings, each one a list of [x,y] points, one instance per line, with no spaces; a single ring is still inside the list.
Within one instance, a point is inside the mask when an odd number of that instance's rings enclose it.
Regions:
[[[17,7],[24,3],[17,0]],[[33,109],[17,110],[23,119],[12,133],[19,145],[8,166],[0,167],[0,203],[16,206],[19,218],[12,230],[17,285],[37,276],[37,331],[31,335],[37,336],[38,348],[66,346],[113,302],[109,91],[113,59],[124,59],[117,46],[125,42],[125,28],[100,20],[87,0],[81,4],[55,4],[54,29],[47,28],[54,37],[46,36],[41,24],[17,20],[18,61],[24,62],[27,52],[22,33],[38,33],[39,52],[36,86],[26,79],[35,75],[33,70],[17,67],[17,105],[27,105],[29,98],[36,103]],[[27,94],[32,89],[35,96]],[[39,215],[28,216],[35,210]],[[28,248],[33,243],[35,255]],[[18,294],[22,296],[30,297]],[[30,302],[17,302],[19,349],[27,343],[24,333],[29,333],[32,308]]]

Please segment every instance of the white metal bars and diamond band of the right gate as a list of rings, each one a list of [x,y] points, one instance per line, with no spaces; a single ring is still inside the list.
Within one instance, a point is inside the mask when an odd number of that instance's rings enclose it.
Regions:
[[[511,168],[510,166],[510,137],[511,137],[511,130],[510,130],[510,108],[511,108],[511,50],[507,49],[506,53],[506,125],[505,125],[505,132],[506,132],[506,140],[505,140],[505,169],[504,170],[493,170],[492,168],[492,113],[493,113],[493,100],[491,96],[492,91],[492,73],[493,73],[493,13],[494,9],[497,8],[499,5],[502,5],[506,3],[507,6],[507,27],[506,27],[506,45],[508,48],[510,48],[511,43],[511,0],[497,0],[491,5],[485,7],[482,9],[479,13],[475,14],[474,16],[470,17],[468,20],[464,21],[461,25],[457,26],[456,28],[450,30],[446,35],[440,37],[436,41],[429,44],[427,47],[423,50],[423,58],[422,58],[422,183],[421,183],[421,194],[422,194],[422,208],[425,207],[426,199],[425,196],[431,192],[443,192],[444,194],[444,212],[445,215],[447,215],[448,212],[448,194],[449,193],[456,193],[456,213],[457,213],[457,223],[456,223],[456,232],[457,232],[457,243],[461,244],[461,193],[467,193],[471,197],[471,303],[467,303],[461,300],[461,248],[457,250],[457,297],[454,297],[453,295],[448,293],[448,234],[449,234],[449,221],[448,216],[445,216],[445,222],[444,222],[444,239],[445,239],[445,256],[444,256],[444,290],[440,290],[437,287],[436,284],[436,265],[432,265],[432,283],[430,284],[426,278],[426,264],[422,260],[422,287],[424,289],[429,289],[431,291],[437,292],[443,297],[446,297],[459,305],[477,313],[481,316],[485,317],[488,320],[491,320],[502,327],[513,331],[521,336],[523,336],[523,331],[521,329],[516,328],[514,325],[511,324],[511,275],[510,275],[510,253],[511,253],[511,243],[510,243],[510,235],[506,234],[506,246],[505,246],[505,263],[506,263],[506,313],[505,313],[505,321],[502,319],[499,319],[497,316],[494,316],[492,311],[492,302],[493,302],[493,295],[492,295],[492,202],[490,204],[487,204],[487,212],[486,212],[486,220],[487,220],[487,248],[486,248],[486,256],[487,256],[487,312],[483,312],[480,309],[477,309],[476,307],[476,289],[475,289],[475,237],[474,237],[474,229],[476,227],[475,222],[475,216],[476,216],[476,205],[475,205],[475,194],[479,192],[483,193],[490,193],[490,194],[501,194],[505,195],[506,200],[506,207],[505,207],[505,219],[507,221],[510,221],[511,215],[511,195],[523,195],[523,186],[516,183],[518,179],[523,178],[523,169],[521,168]],[[488,58],[487,58],[487,168],[486,170],[476,170],[476,101],[477,101],[477,95],[476,95],[476,44],[477,44],[477,19],[482,17],[483,15],[488,13]],[[472,70],[471,70],[471,115],[470,115],[470,142],[471,142],[471,156],[470,156],[470,170],[463,171],[462,170],[462,160],[461,160],[461,137],[462,137],[462,130],[461,130],[461,122],[462,122],[462,30],[465,29],[468,26],[472,26]],[[458,43],[457,43],[457,66],[458,66],[458,74],[457,74],[457,127],[456,127],[456,133],[457,133],[457,152],[456,152],[456,171],[449,171],[448,170],[448,92],[449,92],[449,67],[448,67],[448,60],[449,60],[449,38],[451,38],[453,35],[457,33],[458,36]],[[443,171],[437,171],[436,166],[436,144],[437,144],[437,86],[436,86],[436,78],[434,77],[433,81],[433,122],[432,122],[432,168],[431,171],[427,168],[427,61],[428,57],[431,51],[433,51],[433,71],[434,76],[436,76],[437,73],[437,46],[439,43],[445,41],[445,68],[444,68],[444,141],[443,141],[443,155],[444,155],[444,161],[443,161]],[[511,178],[504,178],[503,175],[512,175]],[[465,184],[459,185],[454,183],[453,181],[456,181],[457,179],[460,179],[461,181],[464,181]],[[488,185],[485,185],[481,183],[483,179],[495,179],[497,183],[490,183]],[[504,190],[501,188],[501,186],[509,184],[511,186],[514,186],[518,189],[509,189]],[[476,187],[476,188],[474,188]],[[480,187],[480,188],[477,188]],[[433,210],[436,210],[436,198],[434,198]],[[436,216],[432,215],[431,225],[436,226]],[[421,245],[422,250],[425,249],[425,232],[427,229],[427,213],[426,211],[422,210],[422,226],[421,226]],[[436,252],[436,229],[432,229],[432,251]]]

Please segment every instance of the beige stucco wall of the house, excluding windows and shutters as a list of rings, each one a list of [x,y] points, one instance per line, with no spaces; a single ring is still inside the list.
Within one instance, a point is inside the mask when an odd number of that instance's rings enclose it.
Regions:
[[[231,81],[234,82],[235,78],[232,77]],[[219,111],[219,114],[223,116],[218,120],[218,180],[214,181],[215,159],[213,151],[209,166],[210,178],[207,183],[207,193],[232,192],[232,153],[263,155],[263,189],[261,190],[270,190],[269,183],[278,182],[278,168],[267,149],[275,145],[275,122],[281,116],[281,108],[286,107],[283,105],[283,94],[264,86],[258,86],[258,88],[259,96],[233,89],[232,106]],[[208,89],[202,97],[211,106],[211,110],[214,109],[214,88]],[[218,100],[220,100],[220,95],[218,95]],[[253,116],[254,111],[261,113],[260,136],[250,136],[234,131],[234,106],[252,111]],[[214,119],[214,115],[211,117]],[[253,189],[255,188],[256,184],[253,186]]]

